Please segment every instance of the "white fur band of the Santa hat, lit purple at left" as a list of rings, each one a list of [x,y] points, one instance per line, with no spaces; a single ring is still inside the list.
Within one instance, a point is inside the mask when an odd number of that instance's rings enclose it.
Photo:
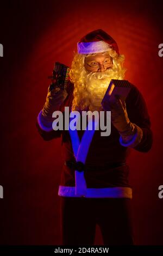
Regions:
[[[78,42],[77,46],[78,53],[82,54],[105,52],[110,48],[110,45],[105,41]]]

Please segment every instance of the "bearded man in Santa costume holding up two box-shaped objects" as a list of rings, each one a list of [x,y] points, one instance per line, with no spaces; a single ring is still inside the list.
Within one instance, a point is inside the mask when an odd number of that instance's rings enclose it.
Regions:
[[[59,186],[63,245],[93,245],[96,224],[104,245],[133,245],[130,223],[132,189],[126,162],[131,148],[147,153],[152,131],[142,94],[130,84],[125,101],[102,106],[111,79],[123,80],[124,56],[102,29],[78,42],[67,88],[49,87],[45,105],[37,117],[37,129],[46,141],[61,137],[62,167]],[[55,111],[65,115],[78,111],[111,111],[111,133],[101,136],[92,120],[92,130],[55,130]]]

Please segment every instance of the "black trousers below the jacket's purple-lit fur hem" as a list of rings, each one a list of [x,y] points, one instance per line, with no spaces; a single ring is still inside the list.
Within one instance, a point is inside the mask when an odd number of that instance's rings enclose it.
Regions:
[[[62,245],[93,245],[96,224],[104,245],[133,245],[127,198],[60,197]]]

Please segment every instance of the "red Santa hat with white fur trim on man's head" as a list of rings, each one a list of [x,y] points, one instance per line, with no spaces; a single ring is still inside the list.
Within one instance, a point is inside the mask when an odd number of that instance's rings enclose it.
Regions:
[[[86,34],[80,39],[77,47],[78,53],[82,54],[105,52],[109,48],[113,48],[117,54],[120,54],[116,41],[102,29]]]

